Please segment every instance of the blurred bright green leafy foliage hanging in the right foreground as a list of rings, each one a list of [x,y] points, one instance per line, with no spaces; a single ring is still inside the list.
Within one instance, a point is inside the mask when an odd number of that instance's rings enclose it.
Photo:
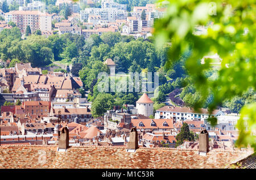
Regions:
[[[210,94],[213,95],[208,106],[211,112],[224,101],[241,97],[249,88],[255,89],[255,2],[228,0],[224,5],[218,0],[214,1],[216,11],[209,12],[210,1],[169,1],[167,9],[174,13],[168,13],[155,22],[155,41],[158,47],[172,43],[166,68],[170,68],[185,52],[191,51],[185,69],[201,95],[195,109],[202,107]],[[205,34],[198,33],[195,28],[198,25],[205,26]],[[212,60],[205,64],[200,62],[204,56],[215,53],[222,62],[217,78],[209,81],[205,72],[212,68],[209,64]],[[246,104],[240,112],[237,145],[250,144],[256,149],[256,102]],[[217,123],[216,118],[208,120],[212,125]]]

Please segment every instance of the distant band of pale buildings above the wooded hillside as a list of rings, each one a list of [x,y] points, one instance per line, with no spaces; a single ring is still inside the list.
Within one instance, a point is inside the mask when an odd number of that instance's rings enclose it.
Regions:
[[[10,5],[16,0],[7,1]],[[3,19],[0,22],[0,32],[5,28],[11,28],[10,22],[17,24],[23,34],[26,27],[30,26],[31,32],[40,30],[42,35],[52,34],[79,34],[88,38],[92,34],[102,35],[105,32],[121,32],[122,35],[131,35],[136,39],[151,36],[154,20],[162,18],[165,8],[156,7],[154,4],[146,6],[135,6],[128,12],[126,5],[121,5],[114,0],[101,1],[101,7],[95,7],[97,1],[81,1],[83,5],[89,6],[81,10],[79,3],[69,0],[57,0],[55,6],[60,10],[63,6],[69,7],[68,19],[63,15],[46,12],[46,6],[41,1],[32,0],[24,4],[18,1],[19,9],[9,12],[0,10]]]

